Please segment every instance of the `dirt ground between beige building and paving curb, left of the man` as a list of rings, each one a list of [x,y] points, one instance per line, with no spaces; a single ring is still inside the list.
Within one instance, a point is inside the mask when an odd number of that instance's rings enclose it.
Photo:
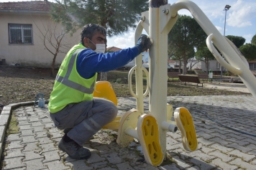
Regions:
[[[11,103],[33,101],[38,93],[49,98],[54,80],[50,69],[0,66],[0,109]]]

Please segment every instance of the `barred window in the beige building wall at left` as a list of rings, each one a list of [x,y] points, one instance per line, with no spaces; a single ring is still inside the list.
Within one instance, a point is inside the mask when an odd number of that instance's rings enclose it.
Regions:
[[[32,24],[9,24],[9,44],[32,43]]]

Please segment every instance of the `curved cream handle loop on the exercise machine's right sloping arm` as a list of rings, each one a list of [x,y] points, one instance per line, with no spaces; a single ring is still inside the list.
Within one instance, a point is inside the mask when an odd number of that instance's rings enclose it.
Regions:
[[[232,65],[229,65],[229,63],[227,63],[222,57],[221,55],[219,55],[219,52],[217,51],[217,49],[214,47],[214,45],[211,43],[211,40],[214,39],[214,34],[210,34],[207,39],[206,39],[206,44],[207,47],[210,49],[211,54],[214,55],[214,57],[216,58],[216,60],[223,65],[223,67],[227,68],[227,70],[229,70],[230,72],[233,72],[234,74],[237,75],[242,75],[242,70],[239,70],[235,67],[232,67]]]

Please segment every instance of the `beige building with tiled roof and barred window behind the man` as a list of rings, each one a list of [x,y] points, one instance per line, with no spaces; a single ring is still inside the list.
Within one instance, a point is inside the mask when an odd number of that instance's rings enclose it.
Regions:
[[[52,67],[56,51],[52,45],[56,44],[55,37],[63,36],[55,60],[58,67],[68,49],[80,41],[80,31],[70,37],[63,34],[60,24],[52,22],[47,0],[0,3],[0,16],[0,60],[6,65]]]

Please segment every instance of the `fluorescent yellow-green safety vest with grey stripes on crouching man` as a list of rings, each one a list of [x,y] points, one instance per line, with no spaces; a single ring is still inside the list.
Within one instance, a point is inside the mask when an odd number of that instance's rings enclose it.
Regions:
[[[85,79],[76,70],[76,59],[83,49],[86,47],[81,43],[72,47],[60,65],[50,94],[48,105],[50,113],[56,113],[70,103],[80,103],[93,99],[97,73],[93,77]]]

